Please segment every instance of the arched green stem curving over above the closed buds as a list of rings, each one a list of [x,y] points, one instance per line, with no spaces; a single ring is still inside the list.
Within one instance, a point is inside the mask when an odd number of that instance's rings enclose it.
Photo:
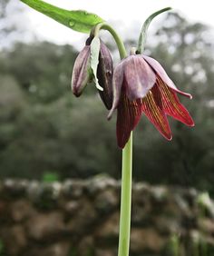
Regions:
[[[96,25],[93,30],[94,36],[97,36],[101,29],[107,30],[110,32],[110,34],[112,34],[112,37],[118,46],[121,59],[125,58],[127,56],[125,46],[122,42],[121,37],[116,33],[116,31],[112,28],[112,26],[106,23],[100,23]]]

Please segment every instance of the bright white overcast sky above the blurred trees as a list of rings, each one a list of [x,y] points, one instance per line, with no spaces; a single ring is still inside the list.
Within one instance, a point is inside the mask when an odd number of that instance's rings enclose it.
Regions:
[[[100,15],[102,19],[112,24],[124,39],[128,36],[129,38],[136,36],[149,15],[168,6],[173,8],[173,12],[179,12],[190,22],[201,22],[214,28],[211,0],[46,0],[46,2],[68,10],[82,9]],[[20,3],[20,5],[24,4]],[[38,38],[56,44],[74,44],[77,48],[82,48],[81,42],[85,35],[72,31],[27,6],[24,6],[24,10]],[[158,19],[160,20],[160,16],[156,17],[156,20]]]

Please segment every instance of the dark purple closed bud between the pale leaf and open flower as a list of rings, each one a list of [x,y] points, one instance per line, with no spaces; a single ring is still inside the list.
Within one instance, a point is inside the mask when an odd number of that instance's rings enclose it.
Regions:
[[[99,90],[99,94],[102,98],[102,102],[109,110],[112,108],[112,75],[112,56],[108,47],[101,42],[99,64],[97,68],[97,78],[99,84],[103,88],[103,91]]]

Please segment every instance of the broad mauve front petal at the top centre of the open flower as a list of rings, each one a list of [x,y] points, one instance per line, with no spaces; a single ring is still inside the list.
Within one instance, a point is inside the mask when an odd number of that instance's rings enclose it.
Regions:
[[[148,94],[155,84],[156,74],[141,55],[131,55],[124,60],[124,78],[127,82],[126,94],[133,101]]]

